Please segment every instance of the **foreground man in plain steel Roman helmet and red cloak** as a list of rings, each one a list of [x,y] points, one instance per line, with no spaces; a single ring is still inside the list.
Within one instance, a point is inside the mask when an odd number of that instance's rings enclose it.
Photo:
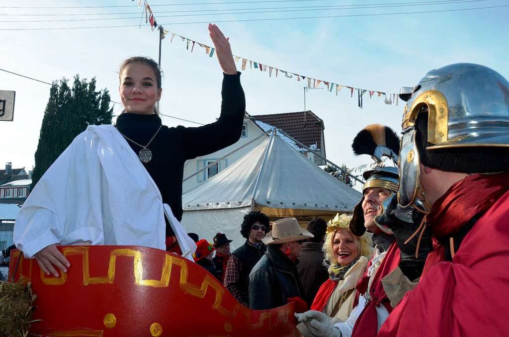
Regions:
[[[398,200],[427,214],[434,249],[379,336],[507,335],[509,82],[453,64],[400,97]]]

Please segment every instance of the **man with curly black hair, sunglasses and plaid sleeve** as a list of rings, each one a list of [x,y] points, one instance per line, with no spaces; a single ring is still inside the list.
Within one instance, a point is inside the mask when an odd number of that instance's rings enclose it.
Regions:
[[[246,242],[232,253],[224,272],[224,287],[246,307],[249,306],[249,273],[265,254],[262,239],[269,224],[269,218],[262,212],[244,215],[240,234]]]

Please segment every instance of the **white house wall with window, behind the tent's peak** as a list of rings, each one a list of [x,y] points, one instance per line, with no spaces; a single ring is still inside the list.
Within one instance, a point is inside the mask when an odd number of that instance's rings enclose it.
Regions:
[[[184,179],[198,171],[199,169],[198,167],[200,168],[203,167],[204,166],[203,163],[206,162],[206,160],[217,160],[222,156],[232,152],[233,150],[240,148],[242,145],[249,143],[254,138],[258,137],[263,133],[262,130],[260,130],[260,128],[258,128],[256,125],[253,124],[253,122],[251,122],[251,120],[245,119],[244,124],[246,124],[247,126],[247,135],[245,137],[240,137],[237,143],[230,145],[229,147],[219,150],[217,152],[208,154],[206,156],[196,157],[194,159],[187,160],[184,164]],[[249,144],[245,148],[242,148],[241,150],[225,158],[225,160],[221,161],[220,163],[219,171],[224,170],[224,168],[230,166],[235,161],[242,158],[242,156],[244,156],[246,153],[262,144],[265,139],[266,139],[265,137],[261,137],[256,142]],[[203,160],[203,162],[200,160]],[[199,166],[199,161],[202,166]],[[184,181],[182,183],[182,191],[185,193],[187,190],[200,185],[203,182],[203,178],[204,172],[201,172],[200,174]]]

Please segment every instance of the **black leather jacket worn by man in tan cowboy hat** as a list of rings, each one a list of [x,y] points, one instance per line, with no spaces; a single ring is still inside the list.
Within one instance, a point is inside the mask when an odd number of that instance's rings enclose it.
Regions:
[[[302,297],[303,287],[295,263],[274,245],[249,274],[249,307],[268,310],[285,305],[289,298]]]

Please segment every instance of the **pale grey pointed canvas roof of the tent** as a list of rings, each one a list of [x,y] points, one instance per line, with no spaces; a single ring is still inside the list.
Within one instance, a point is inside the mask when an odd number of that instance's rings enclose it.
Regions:
[[[225,170],[186,191],[182,204],[184,211],[195,211],[252,206],[253,200],[257,209],[270,210],[266,213],[275,216],[288,216],[283,210],[318,215],[352,212],[361,197],[360,192],[273,135]]]

